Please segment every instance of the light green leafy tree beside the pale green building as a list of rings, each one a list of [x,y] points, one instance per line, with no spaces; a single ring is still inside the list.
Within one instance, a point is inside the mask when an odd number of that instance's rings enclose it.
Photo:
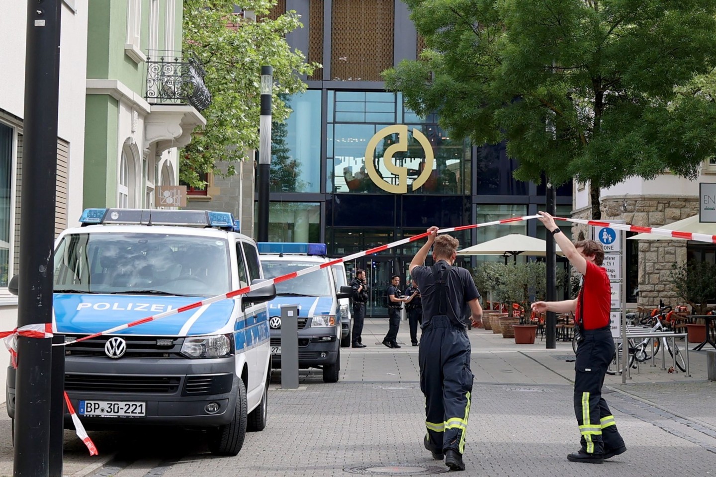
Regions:
[[[292,51],[286,34],[302,27],[295,11],[269,19],[276,0],[245,0],[241,6],[258,21],[233,14],[236,1],[184,0],[184,54],[202,62],[211,106],[202,114],[206,127],[193,133],[180,151],[180,180],[200,187],[198,173],[233,175],[234,164],[258,149],[261,66],[274,67],[274,122],[289,117],[281,95],[304,92],[299,75],[311,74],[318,64],[306,64],[301,51]],[[226,170],[218,164],[228,164]]]

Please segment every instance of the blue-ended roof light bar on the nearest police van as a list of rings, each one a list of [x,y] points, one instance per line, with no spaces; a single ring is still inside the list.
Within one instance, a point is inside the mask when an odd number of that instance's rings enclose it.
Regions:
[[[239,232],[240,222],[231,212],[210,210],[160,210],[160,209],[85,209],[79,222],[92,224],[122,225],[183,225],[184,227],[216,227]]]

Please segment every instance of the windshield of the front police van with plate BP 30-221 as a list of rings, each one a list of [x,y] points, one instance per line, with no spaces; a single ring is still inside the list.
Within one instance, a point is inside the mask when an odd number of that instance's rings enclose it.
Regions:
[[[228,242],[158,233],[65,235],[54,255],[54,291],[213,296],[228,292]]]

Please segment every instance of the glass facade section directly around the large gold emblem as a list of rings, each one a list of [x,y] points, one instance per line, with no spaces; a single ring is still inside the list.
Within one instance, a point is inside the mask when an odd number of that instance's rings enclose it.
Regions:
[[[470,144],[450,139],[435,114],[417,117],[402,94],[329,92],[327,109],[326,191],[390,194],[397,192],[392,187],[405,187],[398,193],[470,193]]]

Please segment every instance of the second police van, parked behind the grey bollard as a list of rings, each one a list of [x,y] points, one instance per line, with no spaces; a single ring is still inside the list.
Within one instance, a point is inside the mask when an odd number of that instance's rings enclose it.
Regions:
[[[258,242],[258,252],[267,278],[329,261],[326,244],[322,243]],[[274,367],[281,367],[281,306],[298,304],[299,368],[319,368],[323,370],[324,383],[336,383],[343,334],[339,300],[351,295],[351,287],[336,287],[332,267],[277,283],[276,298],[269,303]]]

